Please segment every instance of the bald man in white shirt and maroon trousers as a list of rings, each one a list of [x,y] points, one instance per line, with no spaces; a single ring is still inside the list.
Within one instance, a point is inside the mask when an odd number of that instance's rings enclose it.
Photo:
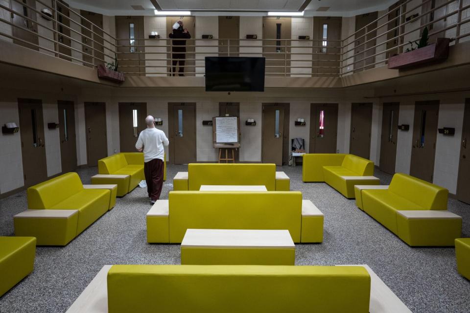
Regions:
[[[155,128],[155,119],[149,115],[145,118],[147,129],[141,131],[137,139],[136,149],[143,151],[143,172],[147,182],[148,198],[150,204],[160,198],[163,186],[164,147],[168,145],[168,138],[163,131]]]

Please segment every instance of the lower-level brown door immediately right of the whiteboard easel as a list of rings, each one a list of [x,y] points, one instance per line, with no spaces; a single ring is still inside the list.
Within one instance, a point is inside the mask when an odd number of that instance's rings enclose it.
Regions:
[[[282,166],[284,146],[284,106],[263,104],[262,162]]]

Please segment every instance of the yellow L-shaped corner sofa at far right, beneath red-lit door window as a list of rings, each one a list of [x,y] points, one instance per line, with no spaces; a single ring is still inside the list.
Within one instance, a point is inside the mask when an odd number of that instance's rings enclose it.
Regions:
[[[347,154],[305,154],[304,182],[326,182],[346,198],[354,198],[354,185],[378,185],[374,162]]]

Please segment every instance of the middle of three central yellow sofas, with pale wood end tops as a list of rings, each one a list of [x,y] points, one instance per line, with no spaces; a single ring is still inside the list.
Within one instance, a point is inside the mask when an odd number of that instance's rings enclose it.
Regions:
[[[181,243],[188,228],[287,229],[296,243],[323,241],[323,214],[297,191],[171,191],[146,216],[148,243]]]

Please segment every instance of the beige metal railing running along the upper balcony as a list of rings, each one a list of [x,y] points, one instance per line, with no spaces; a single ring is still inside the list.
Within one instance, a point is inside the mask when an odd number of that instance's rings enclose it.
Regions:
[[[36,0],[36,6],[22,0],[11,0],[11,7],[0,3],[11,16],[0,24],[12,29],[0,27],[0,38],[88,67],[117,60],[126,75],[176,76],[183,69],[186,76],[203,76],[205,56],[263,56],[266,76],[341,77],[385,66],[393,53],[419,40],[425,26],[431,38],[450,37],[452,44],[470,36],[470,0],[438,5],[403,0],[342,40],[115,38],[64,2],[44,1]],[[37,7],[49,9],[51,16]],[[175,41],[186,41],[186,52]]]

